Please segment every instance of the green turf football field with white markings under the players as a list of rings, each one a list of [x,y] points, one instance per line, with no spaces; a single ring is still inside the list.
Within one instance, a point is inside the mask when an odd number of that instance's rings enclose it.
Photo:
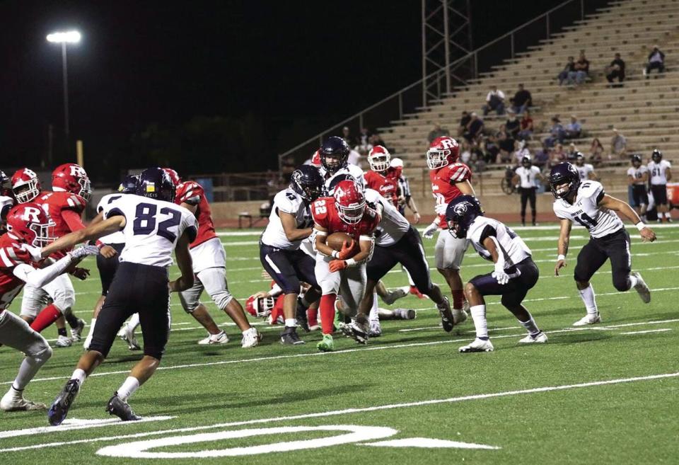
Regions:
[[[384,322],[383,337],[368,346],[336,336],[337,352],[320,354],[317,332],[302,334],[306,345],[284,347],[279,327],[261,324],[262,345],[243,350],[228,323],[230,343],[199,346],[205,333],[175,296],[162,368],[130,399],[148,421],[120,423],[104,412],[140,357],[119,341],[83,385],[70,423],[47,427],[44,412],[0,412],[0,464],[676,464],[679,228],[656,229],[652,244],[630,229],[632,268],[653,289],[651,304],[615,292],[606,264],[593,278],[603,323],[577,330],[571,323],[584,308],[572,272],[586,231],[574,228],[559,278],[558,231],[517,231],[540,265],[526,305],[549,335],[546,345],[518,345],[523,328],[492,298],[495,352],[460,354],[474,338],[471,318],[443,333],[431,302],[411,296],[394,306],[418,309],[417,319]],[[236,297],[267,289],[257,235],[221,239]],[[434,241],[425,247],[433,254]],[[93,260],[86,264],[93,275],[76,283],[76,313],[89,322],[100,284]],[[467,279],[492,270],[473,251],[463,267]],[[400,271],[385,283],[407,284]],[[56,329],[45,336],[56,338]],[[55,349],[26,397],[51,403],[81,351]],[[0,348],[1,391],[20,362],[21,354]]]

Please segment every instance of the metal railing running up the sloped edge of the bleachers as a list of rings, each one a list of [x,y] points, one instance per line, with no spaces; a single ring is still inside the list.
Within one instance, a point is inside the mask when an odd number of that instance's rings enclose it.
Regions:
[[[435,71],[279,154],[279,166],[282,167],[284,163],[298,164],[311,158],[311,155],[320,147],[325,137],[340,135],[344,126],[349,127],[350,132],[355,136],[359,134],[361,128],[376,129],[386,126],[391,121],[403,120],[404,117],[421,110],[438,99],[453,96],[455,88],[446,85],[447,77],[451,82],[450,85],[458,86],[458,90],[460,86],[468,86],[470,79],[477,79],[481,72],[492,69],[492,66],[498,63],[498,56],[513,59],[518,53],[528,50],[528,46],[534,45],[540,40],[549,39],[552,35],[561,32],[567,25],[571,25],[577,20],[584,20],[586,14],[592,13],[609,3],[610,0],[566,0],[540,16],[523,23],[518,28],[514,28],[463,57],[455,59],[448,67],[449,76],[447,76],[446,70]],[[431,83],[434,80],[436,81],[438,98],[427,100],[426,92],[422,91],[422,84],[424,82]]]

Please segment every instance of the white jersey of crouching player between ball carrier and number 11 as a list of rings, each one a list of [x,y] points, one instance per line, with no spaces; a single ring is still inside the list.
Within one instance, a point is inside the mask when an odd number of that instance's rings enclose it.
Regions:
[[[492,255],[483,245],[483,241],[489,236],[494,236],[500,244],[501,251],[498,252],[504,256],[505,270],[516,265],[516,263],[521,263],[532,254],[530,248],[523,242],[523,239],[509,226],[505,226],[497,221],[497,219],[476,217],[469,226],[467,239],[469,239],[472,246],[485,260],[493,260]]]

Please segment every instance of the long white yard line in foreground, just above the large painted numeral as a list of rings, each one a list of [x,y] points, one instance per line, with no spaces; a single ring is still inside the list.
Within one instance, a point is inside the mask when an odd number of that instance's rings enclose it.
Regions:
[[[326,352],[326,353],[340,353],[340,352]],[[649,374],[649,375],[641,376],[641,377],[604,379],[604,380],[600,380],[600,381],[589,381],[589,382],[586,382],[586,383],[562,384],[561,386],[544,386],[544,387],[536,387],[536,388],[531,388],[531,389],[520,389],[520,390],[517,390],[517,391],[503,391],[503,392],[494,392],[494,393],[490,393],[490,394],[472,394],[470,396],[431,399],[429,401],[390,403],[390,404],[387,404],[387,405],[373,406],[373,407],[346,408],[344,410],[315,412],[315,413],[303,413],[301,415],[289,415],[289,416],[273,417],[273,418],[260,418],[260,419],[257,419],[257,420],[244,420],[244,421],[235,421],[235,422],[230,422],[230,423],[215,423],[214,425],[180,427],[180,428],[174,428],[174,429],[170,429],[170,430],[138,432],[138,433],[132,433],[132,434],[129,434],[129,435],[94,437],[94,438],[85,439],[85,440],[47,442],[47,443],[44,443],[44,444],[35,444],[35,445],[31,445],[31,446],[6,447],[4,449],[0,449],[0,452],[17,452],[17,451],[21,451],[21,450],[42,449],[42,448],[45,448],[45,447],[58,447],[58,446],[71,445],[71,444],[86,444],[86,443],[91,443],[91,442],[108,442],[108,441],[128,439],[128,438],[131,438],[131,437],[149,437],[149,436],[157,436],[157,435],[176,434],[176,433],[180,433],[180,432],[214,430],[215,428],[232,427],[232,426],[261,425],[261,424],[264,424],[264,423],[272,423],[272,422],[277,422],[277,421],[304,420],[306,418],[325,418],[325,417],[336,416],[336,415],[350,415],[350,414],[353,414],[353,413],[364,413],[364,412],[391,410],[391,409],[394,409],[394,408],[431,406],[431,405],[437,405],[437,404],[441,404],[441,403],[456,403],[456,402],[464,402],[464,401],[477,401],[477,400],[487,399],[487,398],[518,396],[518,395],[521,395],[521,394],[537,394],[537,393],[550,392],[550,391],[565,391],[567,389],[579,389],[579,388],[586,388],[586,387],[593,387],[593,386],[606,386],[606,385],[610,385],[610,384],[623,384],[623,383],[632,383],[632,382],[635,382],[635,381],[651,381],[651,380],[654,380],[654,379],[668,379],[668,378],[676,378],[676,377],[679,377],[679,372],[663,373],[663,374]]]

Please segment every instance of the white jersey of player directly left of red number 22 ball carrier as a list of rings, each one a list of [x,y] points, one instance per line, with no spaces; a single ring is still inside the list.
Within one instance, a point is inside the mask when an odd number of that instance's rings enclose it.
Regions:
[[[262,234],[262,243],[267,246],[279,247],[288,251],[296,251],[302,241],[289,241],[285,236],[283,223],[278,216],[279,212],[289,213],[295,217],[298,228],[309,228],[313,225],[311,210],[304,203],[301,195],[291,188],[284,189],[274,197],[274,204],[269,214],[269,224]]]

